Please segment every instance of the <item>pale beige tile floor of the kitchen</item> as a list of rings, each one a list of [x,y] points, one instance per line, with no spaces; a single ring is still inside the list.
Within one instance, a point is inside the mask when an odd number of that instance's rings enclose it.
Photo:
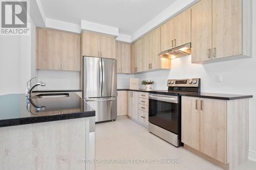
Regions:
[[[127,117],[96,124],[95,132],[96,159],[179,160],[179,163],[97,163],[96,170],[221,169],[183,147],[174,147]],[[237,169],[256,169],[256,162],[247,161]]]

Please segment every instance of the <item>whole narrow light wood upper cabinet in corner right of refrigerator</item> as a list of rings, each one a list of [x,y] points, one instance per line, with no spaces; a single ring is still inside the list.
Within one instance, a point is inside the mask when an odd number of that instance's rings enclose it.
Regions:
[[[131,44],[116,41],[117,73],[131,73]]]

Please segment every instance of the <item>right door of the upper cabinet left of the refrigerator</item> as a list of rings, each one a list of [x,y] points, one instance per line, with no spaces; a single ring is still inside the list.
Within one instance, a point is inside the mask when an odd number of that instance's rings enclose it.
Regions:
[[[61,64],[63,70],[80,71],[80,35],[61,33]]]

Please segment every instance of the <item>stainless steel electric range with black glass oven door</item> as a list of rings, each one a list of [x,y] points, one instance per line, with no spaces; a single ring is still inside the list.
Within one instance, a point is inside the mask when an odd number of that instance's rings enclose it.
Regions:
[[[200,79],[168,80],[168,90],[150,92],[148,130],[179,147],[181,145],[181,95],[200,92]]]

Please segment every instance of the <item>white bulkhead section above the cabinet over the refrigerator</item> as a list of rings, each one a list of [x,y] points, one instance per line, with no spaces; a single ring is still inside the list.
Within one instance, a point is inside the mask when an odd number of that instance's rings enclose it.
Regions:
[[[119,29],[116,27],[110,27],[106,25],[101,25],[99,23],[90,22],[86,20],[81,20],[81,30],[88,30],[103,34],[109,34],[118,36],[119,35]]]

